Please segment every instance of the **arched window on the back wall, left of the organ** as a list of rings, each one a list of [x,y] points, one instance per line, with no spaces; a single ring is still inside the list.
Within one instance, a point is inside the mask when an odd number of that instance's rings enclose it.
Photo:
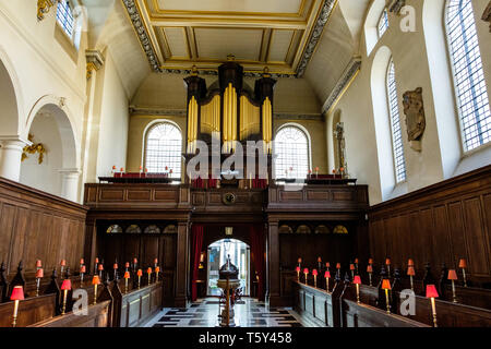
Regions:
[[[181,153],[182,134],[172,123],[158,123],[147,132],[145,168],[148,172],[163,173],[172,170],[171,178],[181,178]]]

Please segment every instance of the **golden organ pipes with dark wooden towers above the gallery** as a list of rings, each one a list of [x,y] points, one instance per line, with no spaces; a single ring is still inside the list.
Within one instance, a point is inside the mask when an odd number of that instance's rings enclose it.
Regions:
[[[243,80],[243,67],[233,56],[218,68],[218,80],[206,87],[195,67],[184,79],[188,88],[187,153],[195,154],[195,141],[219,140],[223,154],[231,154],[236,142],[263,141],[272,153],[273,101],[276,80],[267,68],[252,89]]]

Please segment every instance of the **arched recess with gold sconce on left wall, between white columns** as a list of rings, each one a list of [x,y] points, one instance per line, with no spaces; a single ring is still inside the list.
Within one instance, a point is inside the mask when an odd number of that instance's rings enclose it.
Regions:
[[[28,134],[33,146],[46,153],[27,154],[21,166],[21,183],[79,201],[79,169],[74,132],[67,113],[58,105],[46,104],[34,116]]]

